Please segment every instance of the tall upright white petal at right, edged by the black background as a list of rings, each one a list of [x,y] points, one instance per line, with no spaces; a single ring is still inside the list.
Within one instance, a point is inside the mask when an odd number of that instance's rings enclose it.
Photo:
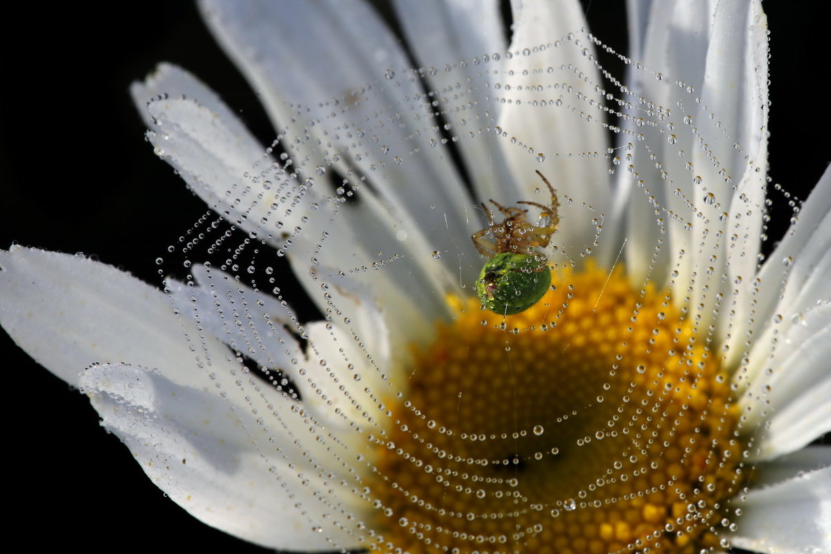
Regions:
[[[691,193],[697,210],[692,233],[696,240],[701,238],[717,247],[704,248],[694,258],[693,269],[700,275],[706,268],[715,267],[712,276],[696,282],[691,299],[692,306],[699,302],[704,305],[701,312],[705,324],[711,318],[711,306],[717,302],[714,293],[703,290],[706,282],[711,288],[721,284],[722,291],[739,306],[751,301],[765,213],[767,59],[767,18],[760,2],[719,2],[701,86],[703,101],[696,105],[693,115],[693,125],[706,148],[692,147],[692,171],[702,178],[702,189],[693,187]],[[707,119],[711,115],[715,115],[715,125]],[[714,202],[709,194],[714,195]],[[730,214],[727,221],[720,217],[725,212]],[[711,237],[722,230],[725,238]],[[718,258],[715,265],[711,262],[714,255]],[[721,277],[722,267],[726,280]],[[719,326],[724,330],[734,318],[729,310],[721,313]]]

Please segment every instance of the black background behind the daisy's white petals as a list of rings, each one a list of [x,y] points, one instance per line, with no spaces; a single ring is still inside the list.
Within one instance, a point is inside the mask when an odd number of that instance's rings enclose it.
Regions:
[[[584,4],[593,32],[625,52],[618,2]],[[765,4],[773,51],[770,167],[775,181],[804,194],[831,159],[826,95],[818,85],[827,54],[824,19],[795,5]],[[189,3],[137,2],[126,17],[86,7],[23,9],[32,11],[4,17],[23,38],[8,29],[0,38],[0,248],[16,241],[85,252],[156,282],[153,260],[205,207],[145,143],[130,81],[159,61],[184,66],[267,144],[273,130],[258,97]],[[43,47],[45,54],[35,53]],[[165,498],[120,441],[99,428],[83,396],[2,331],[0,344],[11,481],[3,498],[12,513],[7,533],[32,546],[84,545],[93,552],[249,547]]]

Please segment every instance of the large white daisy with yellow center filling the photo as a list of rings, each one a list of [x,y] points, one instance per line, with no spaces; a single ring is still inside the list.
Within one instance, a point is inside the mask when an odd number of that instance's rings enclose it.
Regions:
[[[265,547],[828,552],[831,174],[767,178],[759,3],[632,2],[628,56],[577,2],[394,3],[408,50],[357,0],[204,2],[278,136],[160,65],[147,139],[214,211],[163,290],[2,252],[2,326]],[[481,272],[514,247],[544,269]]]

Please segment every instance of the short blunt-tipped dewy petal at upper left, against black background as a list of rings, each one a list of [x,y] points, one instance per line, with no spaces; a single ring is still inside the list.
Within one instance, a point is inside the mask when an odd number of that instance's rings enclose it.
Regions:
[[[313,241],[332,225],[335,211],[322,186],[299,182],[214,91],[176,66],[161,65],[130,91],[150,127],[147,136],[156,154],[205,203],[278,252],[291,244],[295,255],[311,255]],[[356,243],[348,229],[339,236]],[[332,255],[338,252],[344,249],[335,248]]]

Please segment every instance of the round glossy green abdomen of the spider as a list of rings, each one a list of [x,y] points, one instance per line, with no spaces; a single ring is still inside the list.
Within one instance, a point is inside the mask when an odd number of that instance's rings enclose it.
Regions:
[[[513,316],[534,306],[550,285],[551,271],[544,257],[502,252],[482,267],[476,294],[490,311]]]

